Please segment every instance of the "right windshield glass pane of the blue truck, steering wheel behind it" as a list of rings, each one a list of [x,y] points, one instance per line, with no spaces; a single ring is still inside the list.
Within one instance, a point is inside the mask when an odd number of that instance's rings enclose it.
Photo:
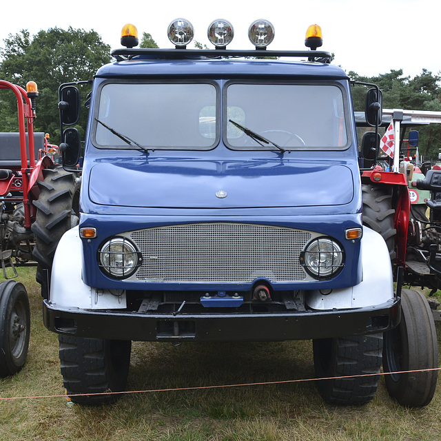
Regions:
[[[224,141],[230,148],[276,150],[274,143],[284,150],[347,148],[345,107],[338,85],[230,84],[226,96]],[[273,145],[261,143],[244,127]]]

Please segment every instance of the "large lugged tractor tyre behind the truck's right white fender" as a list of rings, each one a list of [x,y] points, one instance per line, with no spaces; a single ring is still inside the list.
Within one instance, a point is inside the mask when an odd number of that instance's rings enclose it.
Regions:
[[[363,225],[381,234],[389,249],[391,261],[396,258],[395,210],[392,195],[387,189],[376,185],[362,185]]]

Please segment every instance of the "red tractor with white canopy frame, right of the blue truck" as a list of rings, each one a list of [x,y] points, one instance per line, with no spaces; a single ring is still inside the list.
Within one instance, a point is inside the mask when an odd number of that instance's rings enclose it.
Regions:
[[[409,132],[408,146],[403,144],[407,127],[440,123],[441,112],[383,110],[382,123],[393,131],[393,152],[378,161],[380,136],[366,132],[362,157],[370,170],[362,172],[363,223],[380,233],[387,243],[400,292],[400,325],[384,333],[383,368],[391,372],[386,384],[391,396],[409,406],[424,406],[431,401],[437,381],[438,343],[435,320],[439,311],[431,310],[426,297],[413,287],[427,287],[431,294],[441,289],[441,170],[429,170],[409,189],[413,166],[409,147],[418,145],[418,132]],[[363,125],[363,124],[359,124]],[[378,167],[384,163],[386,167]],[[412,198],[416,189],[427,190],[425,205]],[[430,215],[426,217],[427,207]],[[415,372],[422,370],[422,372]],[[403,371],[414,371],[404,373]]]

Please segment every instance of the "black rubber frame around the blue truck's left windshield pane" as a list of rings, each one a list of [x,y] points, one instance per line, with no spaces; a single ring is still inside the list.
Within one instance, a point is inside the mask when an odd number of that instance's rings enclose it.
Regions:
[[[214,107],[215,107],[215,113],[216,113],[216,123],[215,123],[215,136],[212,139],[212,143],[209,145],[204,145],[201,147],[190,147],[190,146],[182,146],[182,145],[145,145],[141,143],[143,148],[145,150],[181,150],[181,151],[208,151],[213,150],[216,148],[218,143],[220,142],[220,86],[216,81],[210,81],[209,79],[107,79],[100,83],[96,89],[96,99],[95,99],[95,105],[92,115],[92,125],[91,125],[91,134],[90,139],[92,141],[92,144],[94,147],[100,149],[100,150],[133,150],[134,147],[128,145],[127,143],[121,141],[118,145],[104,145],[100,143],[96,139],[96,130],[97,127],[100,126],[100,123],[96,121],[96,119],[100,119],[99,116],[99,110],[101,107],[101,94],[103,92],[103,88],[105,88],[106,85],[112,85],[112,84],[121,84],[121,85],[143,85],[143,84],[158,84],[158,85],[201,85],[201,84],[207,84],[214,87],[214,93],[215,93],[215,101],[214,101]],[[170,122],[170,128],[172,126],[172,121]],[[132,131],[130,131],[127,127],[127,130],[123,128],[121,130],[121,127],[113,127],[117,132],[120,132],[123,136],[132,136]],[[207,139],[209,139],[207,137]],[[137,141],[136,139],[134,141]]]

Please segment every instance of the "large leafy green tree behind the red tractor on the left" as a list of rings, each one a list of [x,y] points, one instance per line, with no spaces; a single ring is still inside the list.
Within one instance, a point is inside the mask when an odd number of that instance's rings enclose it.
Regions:
[[[0,57],[1,79],[23,88],[28,81],[37,82],[39,97],[34,130],[49,132],[52,143],[60,140],[59,85],[92,79],[96,70],[111,59],[110,46],[103,43],[99,34],[73,28],[41,30],[33,37],[27,30],[21,30],[4,40]],[[2,91],[0,104],[0,132],[17,131],[17,101],[12,92]],[[85,127],[85,119],[83,115],[81,127]]]

